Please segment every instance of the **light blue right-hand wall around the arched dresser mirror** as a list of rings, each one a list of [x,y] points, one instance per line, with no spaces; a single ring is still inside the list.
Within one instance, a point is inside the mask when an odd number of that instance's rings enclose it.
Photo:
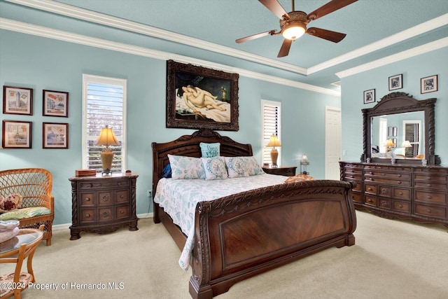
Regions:
[[[414,99],[437,98],[435,103],[435,154],[448,165],[448,48],[407,58],[341,80],[342,92],[342,160],[359,161],[363,153],[363,116],[361,109],[372,108],[388,95],[388,77],[403,75],[403,88]],[[420,78],[438,75],[438,91],[420,93]],[[377,102],[363,104],[364,90],[376,90]]]

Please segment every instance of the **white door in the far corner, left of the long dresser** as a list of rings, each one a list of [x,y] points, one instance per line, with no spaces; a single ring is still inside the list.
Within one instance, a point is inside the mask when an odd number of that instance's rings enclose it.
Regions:
[[[341,109],[325,106],[325,179],[339,181]]]

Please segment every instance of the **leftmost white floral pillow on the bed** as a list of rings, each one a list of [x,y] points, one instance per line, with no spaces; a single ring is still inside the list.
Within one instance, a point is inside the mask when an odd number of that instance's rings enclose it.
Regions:
[[[173,179],[205,179],[200,158],[168,155]]]

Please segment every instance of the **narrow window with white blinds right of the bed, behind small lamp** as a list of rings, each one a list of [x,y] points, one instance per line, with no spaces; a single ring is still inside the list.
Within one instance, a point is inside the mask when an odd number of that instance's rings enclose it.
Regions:
[[[267,148],[272,134],[279,137],[281,143],[281,103],[261,100],[261,132],[262,132],[262,163],[271,164],[272,148]],[[279,158],[277,164],[281,164],[281,148],[276,148],[279,151]]]

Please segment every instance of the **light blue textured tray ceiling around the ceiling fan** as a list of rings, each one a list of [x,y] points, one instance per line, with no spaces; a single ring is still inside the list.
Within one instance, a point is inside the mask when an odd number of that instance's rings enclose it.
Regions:
[[[295,11],[310,13],[328,1],[295,0]],[[159,39],[160,41],[151,41],[151,43],[143,45],[148,48],[190,57],[196,55],[196,58],[221,64],[228,62],[234,67],[280,76],[323,88],[335,88],[330,83],[339,80],[335,75],[339,71],[448,36],[447,0],[359,0],[312,21],[308,25],[308,27],[320,27],[345,33],[347,35],[344,40],[332,43],[305,34],[293,43],[287,57],[277,58],[276,55],[283,41],[280,35],[264,36],[240,44],[235,43],[235,39],[244,36],[279,29],[279,18],[257,0],[59,0],[58,2],[165,29],[169,32],[214,43],[217,47],[225,46],[226,49],[228,47],[260,55],[268,61],[282,62],[307,69],[312,74],[297,74],[295,71],[286,71],[275,65],[255,64],[245,58],[239,58],[239,54],[236,54],[235,58],[226,56],[225,53],[204,51],[201,49],[202,46],[199,46],[200,43],[198,43],[199,48],[195,48]],[[290,0],[279,0],[279,3],[287,12],[291,11]],[[359,57],[336,63],[332,67],[316,68],[321,64],[326,65],[333,59],[339,59],[338,57],[342,57],[346,53],[358,51],[394,34],[402,34],[411,27],[438,17],[441,17],[439,19],[442,25],[437,25],[427,32],[402,41],[399,41],[397,37],[398,43],[379,47],[370,53],[367,51]],[[87,34],[87,32],[83,32],[83,34]],[[144,39],[144,37],[139,36],[138,39]],[[127,39],[121,41],[144,43],[137,39],[136,41]],[[259,59],[259,61],[261,60]]]

